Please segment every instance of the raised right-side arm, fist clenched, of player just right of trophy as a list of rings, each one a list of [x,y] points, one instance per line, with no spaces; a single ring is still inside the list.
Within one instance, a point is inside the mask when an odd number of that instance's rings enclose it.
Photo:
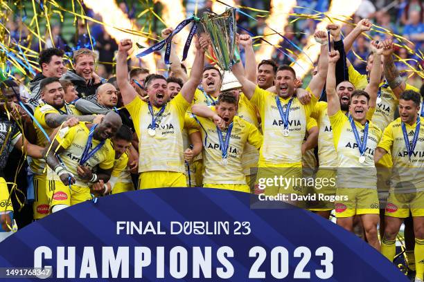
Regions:
[[[315,95],[317,99],[319,99],[319,97],[321,97],[322,89],[326,84],[328,70],[328,56],[326,55],[328,48],[328,37],[326,32],[319,30],[315,32],[314,38],[315,41],[321,44],[321,55],[319,56],[318,60],[318,73],[312,77],[309,83],[309,88],[312,94]]]

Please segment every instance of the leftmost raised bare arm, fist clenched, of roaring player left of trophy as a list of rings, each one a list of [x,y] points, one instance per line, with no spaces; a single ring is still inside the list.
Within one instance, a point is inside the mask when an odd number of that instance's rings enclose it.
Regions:
[[[119,42],[118,55],[116,55],[116,83],[121,91],[124,105],[130,104],[137,97],[135,89],[128,81],[127,52],[131,48],[131,39],[123,39]]]

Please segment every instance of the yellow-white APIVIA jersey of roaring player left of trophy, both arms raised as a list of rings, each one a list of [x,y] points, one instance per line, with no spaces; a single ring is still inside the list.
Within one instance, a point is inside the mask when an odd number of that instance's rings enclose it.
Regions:
[[[150,136],[148,129],[152,115],[148,103],[136,97],[125,107],[132,117],[134,128],[139,136],[139,172],[175,171],[184,173],[184,149],[182,130],[184,115],[190,104],[178,93],[166,104],[165,111],[156,121],[155,135]],[[160,109],[152,106],[154,115]]]

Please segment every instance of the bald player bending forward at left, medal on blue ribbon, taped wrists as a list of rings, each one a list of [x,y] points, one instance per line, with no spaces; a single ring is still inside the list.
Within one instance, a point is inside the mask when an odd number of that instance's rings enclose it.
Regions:
[[[59,132],[46,156],[52,212],[91,199],[90,184],[109,180],[115,160],[109,138],[114,137],[121,126],[121,117],[110,112],[99,124],[79,122]]]

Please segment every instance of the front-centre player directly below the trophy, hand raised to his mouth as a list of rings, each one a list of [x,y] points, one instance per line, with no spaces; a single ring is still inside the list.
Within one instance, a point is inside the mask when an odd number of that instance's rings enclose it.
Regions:
[[[263,137],[256,126],[235,116],[237,100],[231,92],[218,98],[216,111],[193,105],[204,140],[203,187],[250,192],[242,170],[242,155],[249,142],[260,149]]]

